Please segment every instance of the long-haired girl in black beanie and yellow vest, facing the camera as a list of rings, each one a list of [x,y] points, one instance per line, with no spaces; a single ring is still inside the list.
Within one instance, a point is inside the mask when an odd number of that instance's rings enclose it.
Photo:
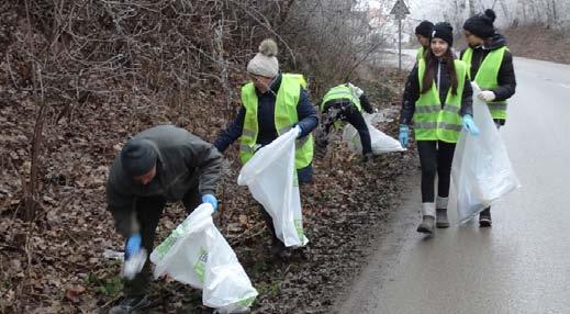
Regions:
[[[461,128],[471,135],[479,130],[472,119],[472,89],[467,67],[451,52],[454,30],[437,23],[429,48],[407,77],[400,116],[400,143],[406,147],[409,125],[414,123],[422,167],[422,223],[417,232],[433,234],[434,225],[448,227],[447,201],[451,161]],[[438,177],[437,200],[435,178]]]

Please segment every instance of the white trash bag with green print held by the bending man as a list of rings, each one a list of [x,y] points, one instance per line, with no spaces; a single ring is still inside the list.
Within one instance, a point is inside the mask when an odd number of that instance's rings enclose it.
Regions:
[[[210,204],[198,206],[150,254],[155,278],[174,279],[202,290],[204,305],[220,313],[249,307],[257,296],[244,268],[212,221]]]

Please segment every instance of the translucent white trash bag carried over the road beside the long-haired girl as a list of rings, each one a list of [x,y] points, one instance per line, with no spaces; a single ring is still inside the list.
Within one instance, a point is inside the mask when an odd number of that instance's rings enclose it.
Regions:
[[[481,90],[473,86],[473,96]],[[485,102],[473,97],[473,120],[479,136],[461,131],[457,143],[451,177],[457,190],[457,217],[469,221],[506,193],[521,187],[506,148]]]

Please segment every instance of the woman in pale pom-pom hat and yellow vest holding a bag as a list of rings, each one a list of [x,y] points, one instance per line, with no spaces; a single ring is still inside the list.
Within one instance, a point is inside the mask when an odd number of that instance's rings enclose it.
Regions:
[[[303,76],[281,74],[276,56],[277,43],[273,40],[262,41],[259,53],[247,64],[252,81],[242,87],[239,112],[230,126],[220,132],[214,146],[223,153],[241,138],[239,159],[245,164],[261,146],[294,127],[299,132],[295,145],[297,178],[300,184],[309,183],[313,176],[311,132],[318,124],[318,117],[305,90]],[[265,210],[261,214],[272,235],[272,253],[287,257],[290,250],[277,238],[271,217]]]

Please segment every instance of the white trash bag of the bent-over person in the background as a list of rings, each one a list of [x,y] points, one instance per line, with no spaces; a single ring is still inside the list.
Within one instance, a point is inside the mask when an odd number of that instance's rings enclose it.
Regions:
[[[377,113],[362,114],[366,124],[368,125],[368,132],[370,132],[370,144],[372,145],[372,153],[375,155],[380,155],[384,153],[405,150],[405,148],[403,148],[400,144],[400,141],[385,135],[372,125],[376,115]],[[353,125],[347,124],[345,126],[345,128],[343,130],[343,139],[348,143],[348,148],[350,150],[358,154],[362,154],[362,144],[360,143],[360,135]]]

